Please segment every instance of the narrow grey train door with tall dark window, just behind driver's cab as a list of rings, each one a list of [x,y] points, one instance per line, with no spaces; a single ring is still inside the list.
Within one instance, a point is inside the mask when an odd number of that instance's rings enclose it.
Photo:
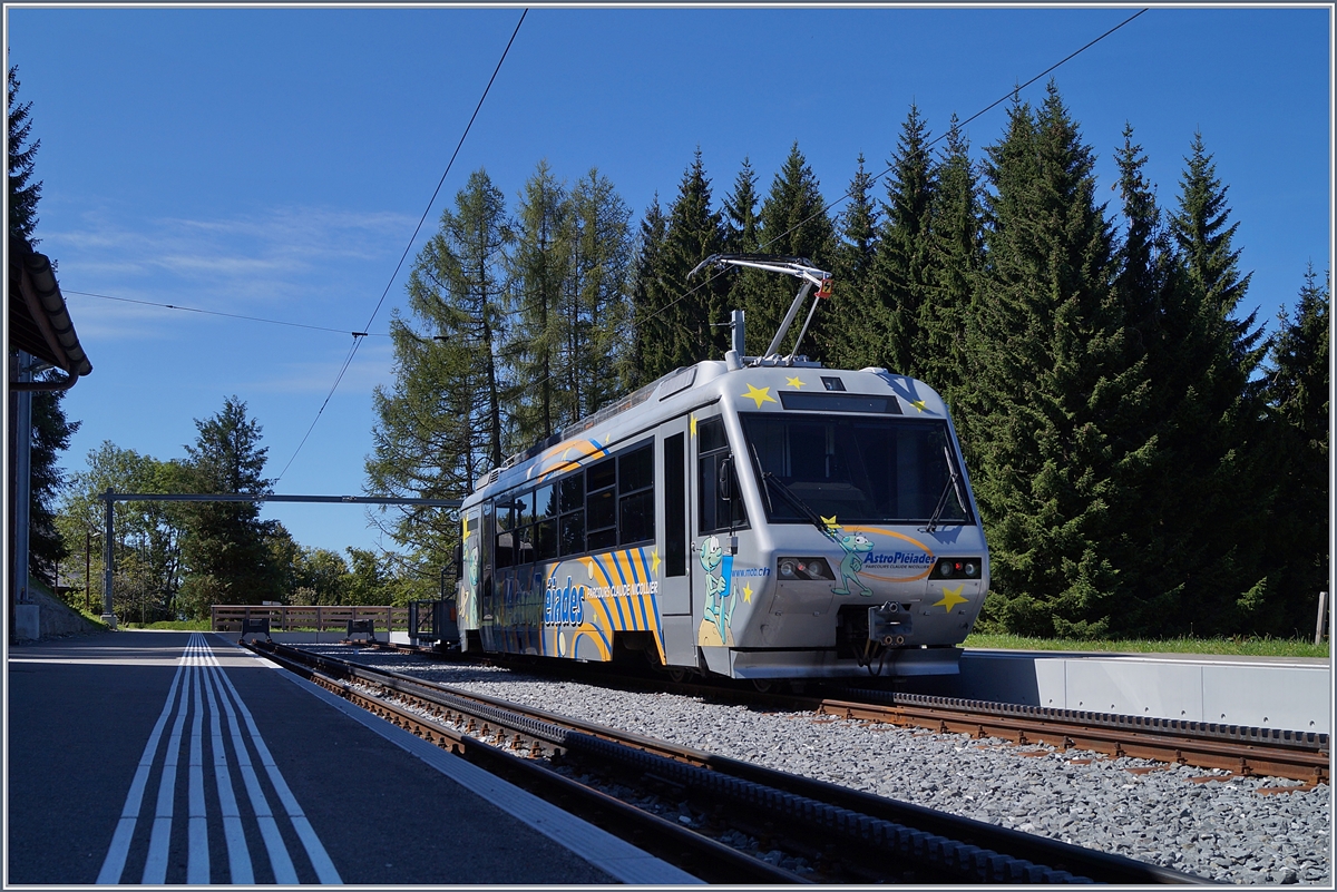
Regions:
[[[659,505],[656,529],[662,568],[659,614],[664,656],[670,666],[697,665],[697,629],[693,617],[691,568],[691,422],[674,418],[659,427]]]

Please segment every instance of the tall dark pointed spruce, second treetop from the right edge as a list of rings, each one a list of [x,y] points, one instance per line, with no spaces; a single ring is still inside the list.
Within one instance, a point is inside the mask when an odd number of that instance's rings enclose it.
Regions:
[[[1249,545],[1254,518],[1271,510],[1261,385],[1253,381],[1266,345],[1255,314],[1238,315],[1250,275],[1238,270],[1238,223],[1230,222],[1226,192],[1197,134],[1169,219],[1179,266],[1161,300],[1163,337],[1150,341],[1159,347],[1159,438],[1177,481],[1162,509],[1174,518],[1177,553],[1167,557],[1175,558],[1177,581],[1143,625],[1209,634],[1247,624],[1270,588],[1262,549]]]

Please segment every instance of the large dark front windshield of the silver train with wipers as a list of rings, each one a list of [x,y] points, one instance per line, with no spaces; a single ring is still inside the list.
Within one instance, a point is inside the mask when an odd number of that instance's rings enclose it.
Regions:
[[[943,421],[739,413],[771,522],[973,523]],[[952,481],[952,471],[957,479]],[[935,517],[936,513],[936,517]]]

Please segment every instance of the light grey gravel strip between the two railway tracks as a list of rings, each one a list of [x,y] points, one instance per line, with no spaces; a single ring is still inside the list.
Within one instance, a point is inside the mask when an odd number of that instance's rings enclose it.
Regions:
[[[1296,781],[763,712],[349,646],[310,649],[1219,883],[1333,881],[1328,785],[1265,795],[1258,791]],[[1222,780],[1195,780],[1207,776]]]

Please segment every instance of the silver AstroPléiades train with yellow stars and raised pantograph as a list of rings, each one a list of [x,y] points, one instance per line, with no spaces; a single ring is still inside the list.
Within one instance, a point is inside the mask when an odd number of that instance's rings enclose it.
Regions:
[[[809,260],[706,266],[802,280],[766,355],[742,355],[734,311],[723,359],[677,369],[484,474],[460,509],[459,646],[762,689],[956,673],[989,557],[943,398],[797,353],[832,291]]]

